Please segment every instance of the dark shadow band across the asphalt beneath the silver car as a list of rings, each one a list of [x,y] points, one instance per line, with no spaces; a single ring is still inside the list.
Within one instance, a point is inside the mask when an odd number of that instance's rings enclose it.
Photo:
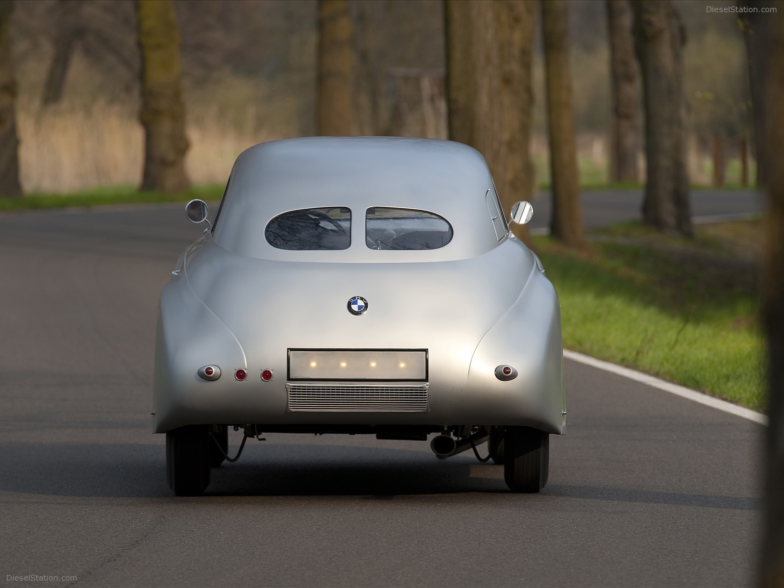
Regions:
[[[236,464],[212,470],[209,496],[359,496],[480,492],[512,496],[503,468],[462,457],[438,461],[405,448],[273,444]],[[568,472],[563,472],[568,477]],[[568,478],[567,478],[568,479]],[[171,498],[161,445],[6,445],[0,448],[0,490],[102,498]],[[542,499],[607,500],[762,510],[759,499],[564,485],[553,480]]]

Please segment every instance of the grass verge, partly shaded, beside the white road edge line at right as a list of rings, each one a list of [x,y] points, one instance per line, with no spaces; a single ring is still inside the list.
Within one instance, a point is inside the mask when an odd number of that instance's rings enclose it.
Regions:
[[[756,267],[744,241],[759,227],[732,224],[746,229],[687,241],[627,223],[580,252],[536,238],[561,299],[564,347],[764,410]]]

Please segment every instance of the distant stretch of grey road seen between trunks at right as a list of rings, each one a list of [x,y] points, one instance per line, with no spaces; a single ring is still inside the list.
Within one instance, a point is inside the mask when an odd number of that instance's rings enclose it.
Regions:
[[[586,227],[604,227],[626,220],[641,218],[642,189],[636,190],[583,190],[583,220]],[[533,201],[532,229],[550,225],[552,205],[550,192],[539,192]],[[701,220],[733,220],[739,216],[759,214],[764,210],[762,194],[753,190],[691,191],[691,214],[696,222]],[[719,217],[719,218],[708,218]],[[536,231],[541,232],[541,231]]]

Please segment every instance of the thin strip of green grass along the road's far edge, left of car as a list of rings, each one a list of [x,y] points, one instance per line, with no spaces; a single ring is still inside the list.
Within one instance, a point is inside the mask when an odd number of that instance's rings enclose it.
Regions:
[[[94,188],[72,194],[25,194],[21,198],[0,198],[0,212],[25,209],[53,209],[67,206],[101,206],[111,204],[143,204],[147,202],[178,202],[193,198],[220,200],[223,184],[210,183],[191,187],[181,194],[139,191],[134,186]]]

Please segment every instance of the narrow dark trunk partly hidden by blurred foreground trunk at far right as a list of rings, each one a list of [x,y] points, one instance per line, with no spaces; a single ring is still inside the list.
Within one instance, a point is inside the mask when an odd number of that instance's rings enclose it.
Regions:
[[[751,0],[740,0],[738,4],[741,7],[748,8],[759,6],[758,2],[751,2]],[[746,54],[749,56],[749,85],[753,106],[753,152],[754,158],[757,160],[757,187],[764,187],[767,175],[764,158],[764,137],[767,122],[763,104],[763,74],[759,71],[760,64],[757,63],[753,56],[756,55],[757,49],[764,50],[764,48],[760,48],[758,45],[757,31],[755,29],[761,24],[761,20],[767,17],[768,15],[763,16],[760,13],[741,13],[738,17],[741,31],[743,31],[743,38],[746,40]]]

